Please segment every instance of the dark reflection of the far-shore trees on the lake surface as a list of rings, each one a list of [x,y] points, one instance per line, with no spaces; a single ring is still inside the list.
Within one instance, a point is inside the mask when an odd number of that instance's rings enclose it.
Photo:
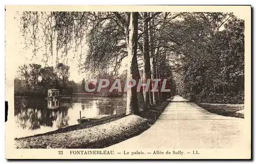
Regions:
[[[57,128],[68,125],[68,110],[72,103],[59,100],[32,98],[15,98],[14,116],[16,123],[23,129],[38,129],[40,126],[52,127],[56,121]]]

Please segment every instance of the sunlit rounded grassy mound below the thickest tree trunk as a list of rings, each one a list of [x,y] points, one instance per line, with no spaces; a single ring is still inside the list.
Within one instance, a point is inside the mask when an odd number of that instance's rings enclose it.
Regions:
[[[19,139],[16,148],[103,148],[138,135],[152,122],[136,115],[98,126]]]

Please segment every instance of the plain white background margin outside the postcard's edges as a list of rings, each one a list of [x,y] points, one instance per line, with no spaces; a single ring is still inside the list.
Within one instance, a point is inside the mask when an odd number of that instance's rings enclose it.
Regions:
[[[3,1],[2,1],[3,2]],[[1,2],[1,3],[2,3]],[[44,4],[42,4],[42,2]],[[4,99],[5,99],[5,42],[4,42],[4,38],[5,38],[5,12],[4,12],[4,5],[169,5],[168,3],[172,3],[172,5],[252,5],[252,7],[255,7],[255,1],[246,1],[246,0],[243,0],[243,1],[223,1],[223,0],[216,0],[216,1],[163,1],[163,0],[157,0],[157,1],[145,1],[145,0],[141,0],[141,1],[135,1],[135,0],[130,0],[130,1],[114,1],[114,0],[110,0],[110,1],[77,1],[77,0],[72,0],[72,1],[61,1],[61,4],[59,4],[57,1],[52,1],[52,0],[44,0],[44,1],[14,1],[14,0],[9,0],[8,2],[6,2],[6,4],[1,4],[1,9],[0,9],[0,19],[1,19],[1,24],[0,24],[0,28],[1,28],[1,37],[2,38],[2,42],[1,42],[1,52],[2,54],[0,55],[0,77],[1,78],[1,92],[0,92],[0,95],[1,95],[1,99],[2,99],[2,104],[4,104]],[[253,14],[254,15],[254,14]],[[253,22],[255,22],[255,16],[252,16],[253,18]],[[254,28],[252,28],[253,30]],[[252,36],[252,38],[254,38],[255,36],[255,33],[254,35]],[[254,44],[252,45],[252,47],[255,47],[255,42],[253,42]],[[254,49],[253,49],[253,52],[252,54],[255,54],[254,53]],[[253,63],[256,63],[255,62],[256,59],[254,57],[253,59]],[[253,67],[253,65],[252,65]],[[254,67],[253,67],[254,68]],[[254,71],[253,71],[254,72]],[[254,75],[254,73],[253,73]],[[255,81],[254,81],[255,82]],[[253,85],[253,84],[252,84]],[[256,85],[254,85],[256,86]],[[254,91],[253,91],[254,93]],[[255,101],[256,98],[253,98],[253,102],[256,102]],[[2,110],[0,110],[2,112],[1,116],[2,118],[4,118],[5,116],[5,112],[4,112],[4,105],[2,105]],[[254,112],[254,115],[253,115],[253,118],[255,116],[255,112]],[[252,119],[253,121],[254,119]],[[253,125],[254,125],[254,121],[253,121]],[[1,155],[1,163],[6,163],[8,162],[6,159],[5,159],[5,135],[4,135],[4,129],[5,129],[5,124],[3,123],[2,121],[2,124],[1,124],[1,129],[3,130],[2,131],[2,135],[0,136],[1,138],[1,149],[2,149],[2,155]],[[253,154],[254,156],[254,154]],[[20,163],[27,163],[28,161],[19,161]],[[31,163],[35,163],[36,161],[30,161]],[[53,163],[53,161],[43,161],[43,162],[48,162],[48,163]],[[62,161],[60,161],[62,162]],[[66,163],[73,163],[74,161],[66,161]],[[84,161],[80,161],[80,162],[84,162]],[[87,163],[91,163],[92,161],[86,161]],[[107,161],[98,161],[98,162],[107,162]],[[121,161],[108,161],[108,162],[121,162]],[[137,163],[135,161],[130,161],[130,162],[133,162],[133,163]],[[138,162],[141,162],[141,161],[138,161]],[[160,163],[160,161],[153,161],[154,163]],[[169,162],[172,162],[172,163],[176,163],[178,161],[169,161]],[[179,162],[179,163],[183,163],[185,161],[182,161],[182,162]],[[198,161],[194,161],[194,162],[198,162]],[[207,161],[203,161],[202,163],[206,163]],[[223,161],[214,161],[212,163],[219,163],[219,162],[223,162]],[[225,162],[225,161],[224,161]],[[232,161],[231,161],[232,162]],[[242,163],[242,162],[239,162],[239,163]]]

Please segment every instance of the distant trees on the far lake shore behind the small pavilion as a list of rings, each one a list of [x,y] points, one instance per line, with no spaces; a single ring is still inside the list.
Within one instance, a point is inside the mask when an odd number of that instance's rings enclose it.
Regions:
[[[69,66],[58,63],[56,67],[39,64],[20,66],[14,79],[15,96],[46,96],[47,90],[56,88],[60,94],[72,94],[79,85],[69,80]]]

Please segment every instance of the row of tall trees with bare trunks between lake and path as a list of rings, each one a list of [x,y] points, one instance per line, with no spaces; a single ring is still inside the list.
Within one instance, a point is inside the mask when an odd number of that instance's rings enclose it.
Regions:
[[[98,72],[106,66],[114,66],[112,69],[116,72],[121,61],[126,58],[126,79],[135,79],[137,82],[134,88],[126,92],[126,114],[139,114],[150,105],[160,103],[162,100],[160,92],[145,90],[137,92],[137,84],[139,79],[143,79],[144,83],[150,79],[151,90],[153,78],[171,77],[167,76],[172,69],[165,57],[169,50],[168,45],[171,43],[166,34],[162,36],[161,28],[166,23],[166,19],[171,21],[180,14],[155,12],[88,14],[92,26],[86,38],[89,53],[84,68]],[[160,87],[161,83],[158,89]]]

